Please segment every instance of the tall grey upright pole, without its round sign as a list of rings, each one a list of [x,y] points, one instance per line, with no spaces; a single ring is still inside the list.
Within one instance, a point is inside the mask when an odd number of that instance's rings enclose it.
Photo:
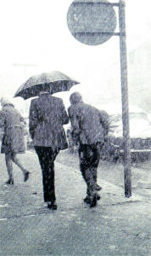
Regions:
[[[124,183],[125,183],[125,196],[130,197],[131,196],[131,141],[129,136],[125,0],[120,0],[119,2],[119,25],[120,25],[121,101],[122,101],[122,123],[123,123],[123,141],[124,141]]]

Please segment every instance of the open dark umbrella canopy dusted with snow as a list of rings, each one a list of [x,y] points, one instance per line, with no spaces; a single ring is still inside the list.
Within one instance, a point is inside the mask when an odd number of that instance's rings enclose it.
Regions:
[[[16,91],[14,97],[21,96],[25,100],[39,95],[40,91],[49,91],[50,94],[70,90],[70,88],[79,84],[79,82],[70,79],[64,73],[53,71],[52,73],[41,73],[31,76]]]

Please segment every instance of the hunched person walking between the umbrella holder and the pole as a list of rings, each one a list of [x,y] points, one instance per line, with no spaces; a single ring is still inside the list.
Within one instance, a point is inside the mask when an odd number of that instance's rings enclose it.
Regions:
[[[68,113],[72,136],[75,143],[79,143],[80,169],[87,183],[84,201],[95,207],[100,199],[97,190],[101,189],[97,184],[97,168],[100,150],[109,131],[109,115],[84,103],[79,92],[70,95],[70,104]]]

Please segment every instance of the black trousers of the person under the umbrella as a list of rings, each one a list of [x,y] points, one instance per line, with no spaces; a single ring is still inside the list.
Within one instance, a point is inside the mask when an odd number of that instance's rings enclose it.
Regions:
[[[44,201],[55,201],[54,187],[54,160],[59,150],[53,150],[51,147],[34,147],[38,155],[42,168],[43,198]]]

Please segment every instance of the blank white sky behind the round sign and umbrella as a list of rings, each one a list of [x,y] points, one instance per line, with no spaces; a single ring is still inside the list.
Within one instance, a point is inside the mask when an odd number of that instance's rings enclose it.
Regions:
[[[31,75],[53,70],[81,81],[78,86],[86,97],[103,96],[109,67],[119,61],[119,38],[112,37],[98,46],[76,41],[66,22],[70,3],[70,0],[0,0],[0,96],[13,96]],[[151,40],[150,7],[150,0],[126,0],[128,51]],[[25,71],[24,67],[14,66],[16,63],[36,64],[36,67]],[[75,86],[73,90],[79,89]]]

